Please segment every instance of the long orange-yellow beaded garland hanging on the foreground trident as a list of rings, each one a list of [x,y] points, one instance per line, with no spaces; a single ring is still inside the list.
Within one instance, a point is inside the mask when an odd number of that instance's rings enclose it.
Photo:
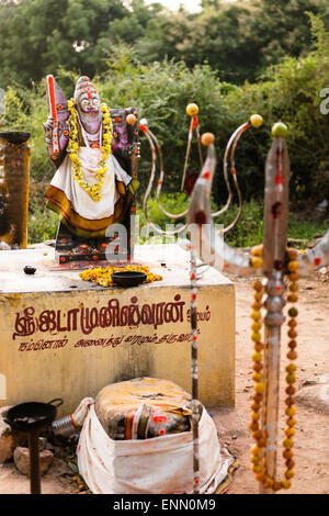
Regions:
[[[287,272],[288,272],[288,280],[290,280],[290,294],[287,296],[287,301],[290,303],[296,303],[298,301],[298,284],[297,281],[299,279],[299,274],[297,273],[298,270],[298,262],[296,261],[297,251],[295,249],[287,249]],[[254,247],[251,250],[251,263],[256,269],[262,267],[262,246]],[[254,350],[252,354],[252,369],[253,369],[253,381],[254,381],[254,394],[251,404],[251,422],[249,424],[249,429],[251,430],[251,436],[256,440],[256,445],[251,448],[251,470],[254,473],[256,480],[261,482],[264,489],[272,489],[273,491],[280,491],[282,489],[290,489],[292,485],[291,479],[294,476],[294,460],[293,460],[293,447],[294,441],[293,437],[295,435],[295,401],[293,395],[295,394],[294,383],[296,382],[296,366],[293,363],[294,360],[297,358],[296,352],[296,326],[297,321],[296,317],[298,315],[298,311],[295,306],[292,306],[288,310],[288,348],[290,351],[287,352],[287,358],[291,360],[291,363],[286,366],[286,394],[287,397],[285,399],[285,415],[287,416],[286,419],[286,428],[285,428],[285,439],[283,441],[283,457],[285,459],[286,470],[284,472],[284,479],[277,481],[276,479],[272,479],[266,474],[266,463],[265,458],[263,458],[263,449],[266,446],[266,435],[264,430],[260,427],[261,423],[261,410],[265,410],[264,407],[264,393],[266,391],[266,384],[264,382],[264,372],[263,372],[263,349],[264,345],[261,343],[261,328],[262,328],[262,317],[261,317],[261,309],[262,309],[262,298],[263,298],[263,285],[261,281],[257,280],[252,284],[253,287],[253,298],[254,301],[252,303],[252,312],[251,312],[251,339],[253,341]]]

